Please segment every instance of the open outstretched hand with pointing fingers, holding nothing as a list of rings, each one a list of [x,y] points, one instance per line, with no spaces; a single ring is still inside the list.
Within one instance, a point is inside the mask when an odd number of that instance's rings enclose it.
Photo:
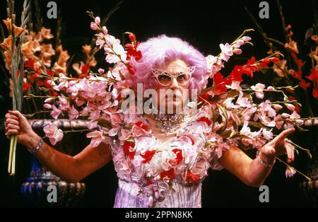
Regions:
[[[295,129],[285,129],[272,141],[265,144],[259,153],[260,157],[273,160],[276,156],[287,153],[288,163],[291,163],[294,160],[294,147],[286,137],[293,132],[295,132]]]

